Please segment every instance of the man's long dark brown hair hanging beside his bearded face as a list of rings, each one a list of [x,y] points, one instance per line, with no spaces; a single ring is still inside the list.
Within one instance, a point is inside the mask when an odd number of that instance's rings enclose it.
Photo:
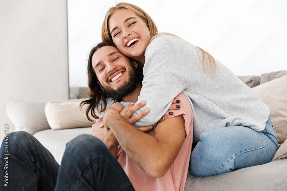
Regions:
[[[80,104],[80,109],[82,109],[82,107],[85,104],[88,104],[88,107],[86,108],[86,116],[88,118],[89,121],[94,121],[89,117],[89,113],[92,115],[93,118],[95,119],[99,119],[99,114],[100,112],[104,111],[107,107],[107,100],[109,99],[109,97],[107,97],[103,91],[101,86],[98,84],[99,80],[96,76],[96,73],[94,71],[94,68],[92,66],[92,57],[93,54],[99,50],[100,48],[102,48],[103,46],[113,46],[115,48],[117,48],[117,46],[113,43],[113,42],[100,42],[99,44],[97,44],[97,46],[95,46],[94,48],[92,48],[92,50],[90,51],[90,55],[88,58],[88,97],[89,99],[82,101]],[[131,58],[129,58],[130,62],[135,60],[132,60]],[[142,82],[144,76],[142,74],[142,70],[143,70],[143,66],[141,63],[137,62],[138,67],[137,67],[137,76],[139,76],[139,82]],[[121,101],[121,100],[114,100],[114,101]]]

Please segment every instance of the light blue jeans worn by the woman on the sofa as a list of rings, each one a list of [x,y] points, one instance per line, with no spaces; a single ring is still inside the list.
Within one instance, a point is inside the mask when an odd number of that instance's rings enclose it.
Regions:
[[[268,163],[278,150],[274,126],[267,120],[265,129],[220,127],[207,131],[191,152],[189,172],[212,176],[236,169]]]

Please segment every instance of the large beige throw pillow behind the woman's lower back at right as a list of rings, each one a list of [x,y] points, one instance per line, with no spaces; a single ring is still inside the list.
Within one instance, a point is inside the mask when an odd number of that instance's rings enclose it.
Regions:
[[[270,109],[279,146],[287,138],[287,75],[252,88]]]

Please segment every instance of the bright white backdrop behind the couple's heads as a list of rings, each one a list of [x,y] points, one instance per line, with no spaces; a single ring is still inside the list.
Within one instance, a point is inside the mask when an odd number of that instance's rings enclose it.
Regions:
[[[237,76],[287,70],[285,0],[146,0],[135,4],[159,32],[210,52]],[[87,57],[101,42],[106,10],[116,0],[68,0],[69,85],[87,86]]]

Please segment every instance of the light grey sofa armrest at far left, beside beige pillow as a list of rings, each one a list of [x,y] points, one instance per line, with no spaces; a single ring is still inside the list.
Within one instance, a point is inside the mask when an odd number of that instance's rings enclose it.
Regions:
[[[38,131],[51,129],[44,113],[47,102],[17,100],[13,104],[8,103],[6,113],[15,125],[15,131],[27,131],[33,135]]]

